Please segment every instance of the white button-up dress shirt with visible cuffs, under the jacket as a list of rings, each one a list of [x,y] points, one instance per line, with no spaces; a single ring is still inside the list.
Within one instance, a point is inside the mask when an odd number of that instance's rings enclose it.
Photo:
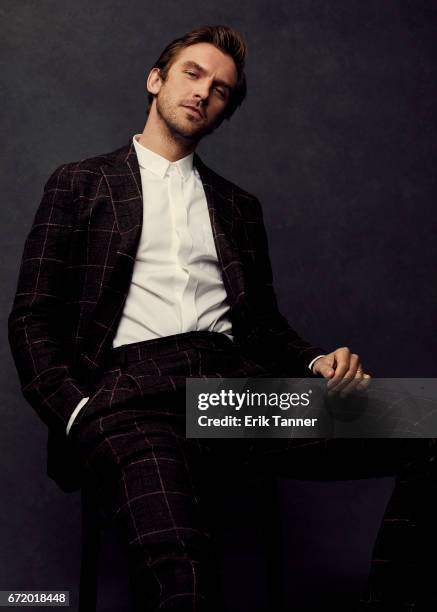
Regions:
[[[141,174],[143,228],[113,347],[196,330],[232,339],[228,298],[193,154],[170,162],[139,144],[139,136],[133,144]],[[71,414],[67,435],[88,399]]]

